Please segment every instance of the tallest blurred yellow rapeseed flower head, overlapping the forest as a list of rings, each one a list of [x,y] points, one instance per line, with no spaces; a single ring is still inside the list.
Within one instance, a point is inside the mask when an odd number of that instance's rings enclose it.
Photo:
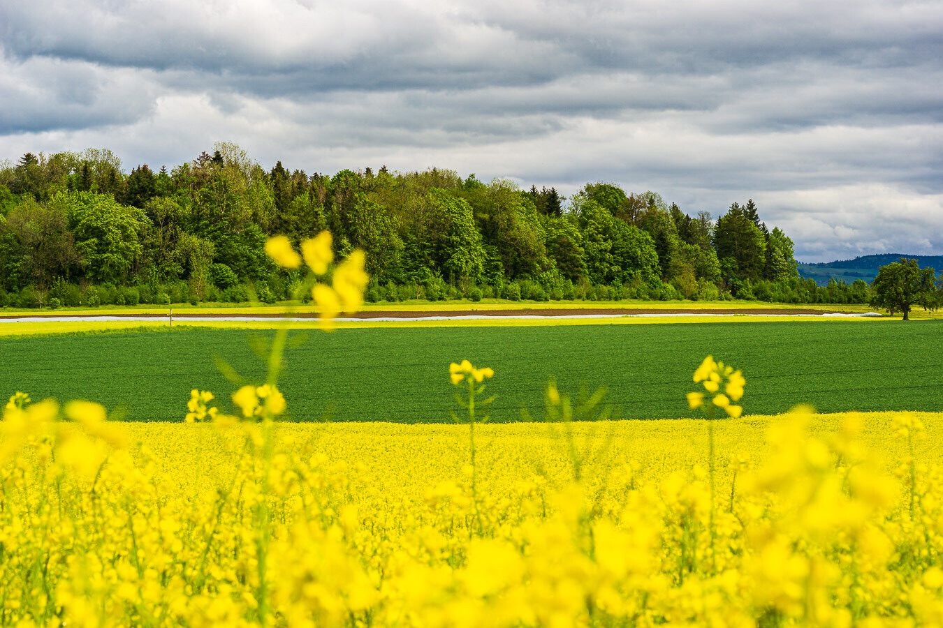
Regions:
[[[284,235],[275,235],[265,243],[265,251],[275,264],[283,268],[298,268],[305,264],[315,276],[327,274],[328,267],[334,261],[330,232],[318,233],[313,238],[301,243],[301,255],[291,247],[291,242]],[[321,311],[321,320],[325,329],[330,329],[331,321],[341,312],[354,314],[363,305],[363,291],[370,282],[366,270],[366,256],[362,250],[354,250],[335,269],[331,284],[315,282],[311,285],[311,298]],[[308,284],[310,285],[310,284]]]

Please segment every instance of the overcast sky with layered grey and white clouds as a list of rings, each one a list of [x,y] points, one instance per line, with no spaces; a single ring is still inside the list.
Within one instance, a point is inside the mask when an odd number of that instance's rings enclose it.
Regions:
[[[171,168],[217,140],[267,169],[753,198],[802,261],[943,254],[943,2],[0,0],[0,161]]]

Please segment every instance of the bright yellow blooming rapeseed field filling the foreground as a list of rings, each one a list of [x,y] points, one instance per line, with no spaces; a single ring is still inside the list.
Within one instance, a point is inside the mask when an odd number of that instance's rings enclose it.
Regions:
[[[617,428],[626,445],[578,481],[554,425],[480,427],[475,490],[459,426],[121,430],[98,404],[24,401],[0,424],[0,622],[940,625],[943,467],[918,465],[910,513],[860,417],[813,420],[721,464],[712,551],[703,447],[672,438],[670,458],[654,422],[574,427],[581,450]]]

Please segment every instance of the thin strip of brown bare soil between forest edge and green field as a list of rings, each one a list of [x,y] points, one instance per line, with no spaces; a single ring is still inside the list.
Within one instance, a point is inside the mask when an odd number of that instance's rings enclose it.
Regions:
[[[717,308],[710,310],[695,310],[695,309],[653,309],[653,308],[572,308],[572,309],[531,309],[531,310],[450,310],[450,311],[438,311],[438,312],[428,312],[428,311],[396,311],[396,312],[382,312],[382,311],[372,311],[372,312],[358,312],[354,316],[345,316],[346,318],[355,318],[362,320],[370,320],[372,318],[422,318],[427,316],[440,316],[440,317],[451,317],[451,316],[587,316],[592,314],[606,314],[606,315],[628,315],[628,314],[843,314],[838,311],[833,310],[810,310],[802,308],[790,308],[790,309],[764,309],[764,308],[749,308],[749,309],[734,309],[734,308]],[[69,314],[67,312],[61,312],[56,314],[0,314],[0,318],[25,318],[29,316],[30,318],[36,318],[41,320],[49,316],[69,316],[69,315],[82,315],[82,316],[114,316],[116,318],[167,318],[167,314]],[[253,312],[251,314],[215,314],[215,313],[201,313],[201,314],[187,314],[185,312],[174,313],[174,318],[239,318],[240,316],[252,317],[252,318],[282,318],[286,315],[290,315],[291,318],[317,318],[318,314],[306,312],[298,314],[273,314],[267,312]]]

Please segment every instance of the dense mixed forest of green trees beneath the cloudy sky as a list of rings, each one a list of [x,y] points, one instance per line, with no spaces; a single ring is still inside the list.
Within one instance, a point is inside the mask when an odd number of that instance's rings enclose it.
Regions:
[[[753,201],[687,215],[653,192],[461,178],[449,169],[262,169],[234,144],[126,173],[108,150],[0,168],[0,306],[290,298],[273,234],[322,230],[367,252],[368,300],[718,299],[867,302],[865,282],[802,281]]]

